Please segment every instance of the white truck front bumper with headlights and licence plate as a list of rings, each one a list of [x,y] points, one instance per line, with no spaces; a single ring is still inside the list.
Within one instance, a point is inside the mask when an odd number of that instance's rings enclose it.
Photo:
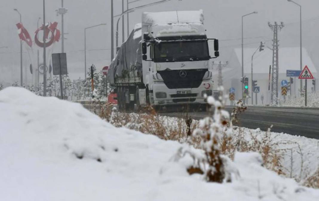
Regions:
[[[153,84],[152,105],[205,104],[204,93],[212,95],[213,82],[203,80],[198,88],[168,89],[163,82]],[[165,94],[166,93],[166,96]]]

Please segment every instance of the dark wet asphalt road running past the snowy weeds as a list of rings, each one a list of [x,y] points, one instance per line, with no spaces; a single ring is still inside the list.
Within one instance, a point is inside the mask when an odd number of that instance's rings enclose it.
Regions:
[[[233,107],[226,107],[232,112]],[[180,117],[181,113],[161,113],[166,116]],[[190,117],[196,120],[209,115],[208,112],[190,112]],[[271,131],[301,135],[308,138],[319,139],[319,108],[295,108],[295,107],[255,107],[249,106],[239,115],[240,124],[237,126],[246,128],[260,128],[266,131],[273,125]]]

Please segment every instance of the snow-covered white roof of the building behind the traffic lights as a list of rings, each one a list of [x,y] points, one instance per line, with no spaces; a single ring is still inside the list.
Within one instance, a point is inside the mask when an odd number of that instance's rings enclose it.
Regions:
[[[251,56],[256,48],[244,48],[244,73],[251,72]],[[238,64],[241,66],[241,48],[234,49]],[[279,48],[279,73],[285,73],[286,70],[300,70],[300,48],[285,47]],[[236,62],[237,63],[237,62]],[[269,73],[269,66],[272,65],[272,50],[265,48],[259,52],[257,50],[253,60],[254,73]],[[302,48],[302,68],[308,66],[312,73],[317,73],[314,63],[308,55],[305,48]],[[234,68],[236,66],[232,66]]]

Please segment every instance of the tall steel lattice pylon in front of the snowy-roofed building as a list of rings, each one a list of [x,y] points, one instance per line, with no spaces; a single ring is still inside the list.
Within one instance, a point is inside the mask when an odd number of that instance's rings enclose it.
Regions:
[[[281,30],[285,25],[283,22],[280,25],[275,22],[274,25],[268,22],[268,26],[274,32],[272,40],[272,77],[271,77],[271,104],[278,105],[278,75],[279,75],[279,58],[278,58],[278,30]]]

